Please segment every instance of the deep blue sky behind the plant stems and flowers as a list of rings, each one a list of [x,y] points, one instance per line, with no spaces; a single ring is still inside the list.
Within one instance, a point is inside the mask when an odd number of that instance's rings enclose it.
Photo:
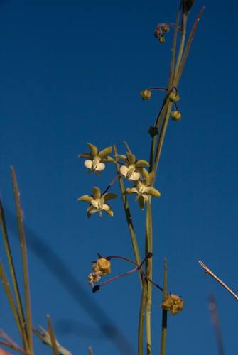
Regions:
[[[195,1],[188,32],[205,7],[178,87],[181,122],[169,121],[153,199],[153,280],[184,300],[168,315],[167,354],[215,354],[207,297],[217,300],[227,354],[237,349],[237,301],[205,277],[202,260],[237,293],[237,4]],[[161,44],[158,23],[175,22],[179,1],[0,1],[0,190],[18,277],[21,258],[14,222],[10,165],[16,171],[28,241],[33,324],[47,328],[50,314],[60,344],[72,354],[127,354],[102,329],[117,327],[136,354],[140,303],[138,275],[105,285],[92,295],[91,261],[119,255],[134,259],[119,196],[104,214],[87,219],[77,198],[102,191],[116,175],[106,165],[87,174],[87,142],[99,151],[115,144],[148,160],[163,92],[142,101],[146,87],[166,87],[173,29]],[[129,186],[129,185],[128,185]],[[119,186],[111,192],[119,195]],[[141,255],[145,211],[129,196]],[[1,245],[1,259],[7,269]],[[67,270],[59,266],[60,258]],[[129,270],[113,261],[112,277]],[[105,276],[105,279],[109,278]],[[75,287],[73,287],[75,285]],[[153,290],[152,351],[161,336],[162,293]],[[18,332],[3,288],[0,327],[16,342]],[[228,315],[229,313],[229,315]],[[126,341],[123,341],[126,342]],[[34,338],[36,354],[51,354]],[[80,349],[80,350],[79,350]],[[133,352],[134,351],[134,352]]]

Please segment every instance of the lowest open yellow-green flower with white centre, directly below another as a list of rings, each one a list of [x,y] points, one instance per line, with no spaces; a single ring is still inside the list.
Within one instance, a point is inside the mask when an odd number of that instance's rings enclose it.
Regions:
[[[84,195],[77,199],[78,201],[84,201],[90,203],[90,207],[87,209],[87,217],[90,218],[91,214],[99,212],[99,216],[102,217],[102,211],[105,211],[109,216],[113,216],[112,208],[109,204],[104,203],[107,200],[112,200],[117,197],[115,194],[107,193],[103,196],[98,187],[92,187],[93,196]]]

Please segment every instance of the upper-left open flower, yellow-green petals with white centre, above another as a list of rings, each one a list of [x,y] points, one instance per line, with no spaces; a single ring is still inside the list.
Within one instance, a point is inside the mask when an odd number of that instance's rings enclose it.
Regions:
[[[115,160],[109,156],[112,152],[112,147],[107,147],[103,151],[98,151],[96,146],[87,143],[90,147],[90,153],[83,153],[79,155],[79,158],[88,158],[90,160],[85,160],[85,166],[88,168],[88,173],[94,171],[97,175],[100,175],[101,171],[104,170],[104,163],[115,163]]]

